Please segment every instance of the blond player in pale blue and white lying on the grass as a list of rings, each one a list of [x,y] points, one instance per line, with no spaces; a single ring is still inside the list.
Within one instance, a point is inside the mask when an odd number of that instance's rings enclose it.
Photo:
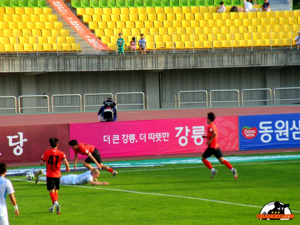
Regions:
[[[67,185],[77,185],[77,184],[87,184],[90,183],[91,185],[108,185],[107,182],[98,182],[97,178],[99,177],[99,170],[94,168],[91,171],[87,171],[80,175],[76,174],[69,174],[65,176],[61,176],[60,184],[67,184]],[[46,177],[40,177],[41,175],[45,175],[46,173],[40,170],[35,174],[36,180],[35,183],[37,184],[39,181],[46,181]],[[94,181],[95,180],[95,181]]]

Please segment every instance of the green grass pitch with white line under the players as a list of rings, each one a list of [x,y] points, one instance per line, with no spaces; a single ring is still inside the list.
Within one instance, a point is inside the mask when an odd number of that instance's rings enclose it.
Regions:
[[[210,179],[203,164],[117,169],[116,178],[101,171],[106,186],[61,186],[61,215],[52,205],[45,182],[35,184],[25,176],[11,180],[20,215],[7,197],[13,224],[258,224],[256,215],[271,201],[289,203],[300,221],[300,160],[234,163],[238,179],[220,163]],[[10,169],[10,168],[9,168]],[[66,174],[66,173],[64,173]],[[266,223],[266,222],[264,222]],[[274,223],[274,222],[273,222]],[[272,223],[272,224],[273,224]]]

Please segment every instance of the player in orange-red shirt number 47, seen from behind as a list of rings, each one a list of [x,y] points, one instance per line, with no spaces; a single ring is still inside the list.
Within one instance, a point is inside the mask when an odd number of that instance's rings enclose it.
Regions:
[[[47,190],[49,191],[52,207],[49,208],[51,213],[54,212],[54,208],[56,206],[57,215],[61,214],[61,206],[58,205],[58,190],[59,183],[61,177],[61,161],[63,161],[66,165],[66,171],[70,172],[69,163],[66,159],[66,155],[57,149],[58,139],[51,137],[49,139],[50,146],[52,149],[44,152],[42,159],[40,161],[40,165],[43,165],[46,162],[47,166]]]

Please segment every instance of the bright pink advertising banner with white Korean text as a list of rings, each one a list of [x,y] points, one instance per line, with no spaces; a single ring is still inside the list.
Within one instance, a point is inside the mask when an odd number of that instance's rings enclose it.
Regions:
[[[238,116],[218,117],[214,123],[222,151],[239,151]],[[70,124],[70,140],[95,146],[102,158],[197,153],[207,148],[202,138],[207,126],[206,118]]]

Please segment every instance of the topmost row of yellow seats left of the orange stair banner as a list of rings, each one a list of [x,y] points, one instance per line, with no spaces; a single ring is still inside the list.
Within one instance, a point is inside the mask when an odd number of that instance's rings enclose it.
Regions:
[[[52,9],[49,8],[31,8],[31,7],[0,7],[0,15],[3,14],[37,14],[37,15],[44,15],[44,14],[52,14]]]

